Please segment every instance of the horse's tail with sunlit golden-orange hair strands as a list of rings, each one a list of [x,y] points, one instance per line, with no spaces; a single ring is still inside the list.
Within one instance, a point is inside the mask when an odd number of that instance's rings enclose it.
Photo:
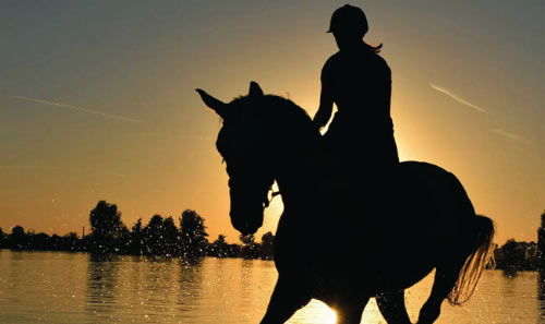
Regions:
[[[496,231],[494,221],[488,217],[476,215],[472,223],[473,248],[458,275],[455,287],[447,296],[451,305],[465,303],[475,291],[485,266],[488,264],[494,266],[493,239]]]

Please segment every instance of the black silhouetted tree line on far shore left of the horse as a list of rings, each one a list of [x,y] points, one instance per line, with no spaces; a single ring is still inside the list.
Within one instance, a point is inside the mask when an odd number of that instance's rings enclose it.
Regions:
[[[89,213],[90,233],[78,238],[75,232],[63,237],[26,231],[21,226],[4,233],[0,228],[0,249],[84,251],[98,254],[120,253],[133,255],[161,255],[183,259],[245,257],[272,259],[275,237],[267,232],[262,243],[254,236],[240,236],[242,244],[229,244],[226,236],[209,243],[204,218],[195,211],[184,211],[179,225],[172,216],[154,215],[144,225],[142,218],[131,229],[121,220],[121,212],[116,204],[99,201]]]

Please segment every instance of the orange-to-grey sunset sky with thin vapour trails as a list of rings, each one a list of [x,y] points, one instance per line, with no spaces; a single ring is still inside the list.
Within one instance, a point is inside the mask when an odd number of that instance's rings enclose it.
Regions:
[[[326,34],[344,1],[0,2],[0,227],[88,231],[99,200],[131,227],[195,209],[230,242],[221,127],[257,81],[314,116]],[[496,242],[535,241],[545,209],[545,8],[540,0],[351,1],[384,44],[402,160],[453,172]],[[256,233],[275,232],[275,199]]]

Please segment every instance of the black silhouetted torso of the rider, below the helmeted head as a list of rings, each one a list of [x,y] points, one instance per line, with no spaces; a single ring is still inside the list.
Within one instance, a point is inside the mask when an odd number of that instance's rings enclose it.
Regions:
[[[341,159],[388,167],[399,161],[390,118],[391,72],[372,47],[362,44],[331,56],[322,70],[336,113],[326,139]]]

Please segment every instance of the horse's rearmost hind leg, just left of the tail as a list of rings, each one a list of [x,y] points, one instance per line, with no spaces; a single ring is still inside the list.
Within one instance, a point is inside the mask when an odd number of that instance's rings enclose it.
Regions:
[[[460,269],[461,265],[436,269],[432,293],[420,310],[416,324],[432,324],[439,317],[441,303],[455,287]]]

